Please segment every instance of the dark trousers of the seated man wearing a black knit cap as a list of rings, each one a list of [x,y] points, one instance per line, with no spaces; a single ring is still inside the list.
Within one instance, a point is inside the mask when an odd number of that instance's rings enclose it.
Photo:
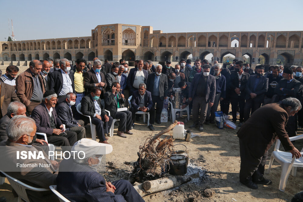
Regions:
[[[65,133],[48,136],[48,143],[54,144],[55,146],[73,146],[77,141],[77,133],[74,131],[65,131]]]

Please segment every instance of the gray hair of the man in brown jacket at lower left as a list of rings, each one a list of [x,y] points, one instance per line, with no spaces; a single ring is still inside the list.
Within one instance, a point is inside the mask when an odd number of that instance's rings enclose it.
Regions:
[[[24,134],[31,134],[34,131],[32,124],[35,124],[34,119],[17,115],[11,118],[6,127],[8,139],[17,141]]]

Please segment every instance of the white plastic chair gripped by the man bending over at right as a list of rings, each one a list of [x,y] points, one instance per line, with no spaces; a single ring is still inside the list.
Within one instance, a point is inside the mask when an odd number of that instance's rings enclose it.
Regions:
[[[303,134],[295,136],[295,137],[290,137],[289,139],[291,141],[303,139]],[[300,157],[298,159],[296,159],[296,157],[292,158],[291,157],[292,154],[290,152],[280,151],[279,150],[280,143],[281,143],[281,141],[279,139],[277,139],[276,145],[275,145],[275,150],[272,152],[271,157],[270,157],[267,174],[270,173],[272,162],[275,159],[282,167],[279,190],[284,191],[291,169],[292,169],[291,174],[292,174],[292,176],[295,177],[297,167],[303,167],[303,157]],[[302,150],[301,150],[301,155],[303,155]]]

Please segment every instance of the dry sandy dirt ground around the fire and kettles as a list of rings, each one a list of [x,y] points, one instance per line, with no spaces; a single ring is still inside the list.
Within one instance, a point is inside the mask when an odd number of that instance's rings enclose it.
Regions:
[[[185,118],[179,118],[178,121],[184,121]],[[155,131],[153,134],[168,127],[172,121],[154,124]],[[185,129],[189,129],[192,121],[185,123]],[[236,123],[238,124],[238,122]],[[237,128],[238,130],[238,128]],[[271,185],[258,185],[258,190],[250,189],[239,182],[238,172],[240,168],[239,144],[236,131],[233,129],[218,129],[215,124],[204,125],[204,131],[199,132],[196,128],[192,132],[198,134],[190,142],[184,140],[175,140],[175,143],[185,144],[187,153],[191,159],[190,173],[193,180],[187,184],[181,185],[173,190],[165,190],[155,194],[143,197],[145,201],[291,201],[294,194],[302,190],[302,168],[297,169],[297,177],[289,176],[285,192],[278,190],[281,166],[274,161],[270,174],[265,174],[265,178],[271,179]],[[87,130],[89,133],[89,130]],[[115,126],[114,134],[117,132]],[[122,138],[117,135],[110,137],[109,143],[113,146],[113,152],[106,156],[106,172],[102,174],[108,181],[118,179],[127,179],[132,171],[132,164],[137,160],[139,146],[144,144],[146,138],[152,133],[143,121],[135,124],[132,130],[133,135]],[[302,131],[298,131],[302,134]],[[172,131],[162,135],[165,138],[172,135]],[[87,134],[90,137],[90,134]],[[302,141],[296,141],[295,146],[301,150]],[[183,149],[182,145],[176,146]],[[265,173],[268,168],[268,162],[274,145],[271,147],[268,155]],[[128,163],[130,162],[130,164]],[[128,165],[129,164],[129,165]],[[201,167],[201,169],[199,169]],[[200,176],[199,176],[200,173]],[[206,197],[205,189],[214,191],[213,196]],[[0,185],[0,197],[6,196],[8,201],[17,201],[12,195],[12,187],[5,180],[5,184]],[[211,192],[211,191],[210,191]]]

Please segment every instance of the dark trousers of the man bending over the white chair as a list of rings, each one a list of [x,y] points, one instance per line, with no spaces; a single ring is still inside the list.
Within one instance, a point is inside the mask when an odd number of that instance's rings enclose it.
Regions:
[[[239,144],[241,158],[240,182],[245,184],[249,181],[262,180],[268,151],[262,157],[256,157],[254,151],[251,151],[241,139],[239,139]]]

